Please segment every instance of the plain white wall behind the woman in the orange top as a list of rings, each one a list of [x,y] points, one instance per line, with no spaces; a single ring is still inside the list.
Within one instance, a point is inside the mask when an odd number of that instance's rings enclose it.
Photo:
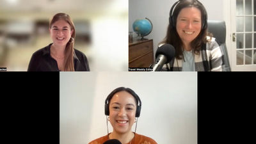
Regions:
[[[84,144],[106,135],[104,100],[125,86],[142,102],[136,132],[157,143],[196,144],[196,79],[196,72],[60,72],[60,143]]]

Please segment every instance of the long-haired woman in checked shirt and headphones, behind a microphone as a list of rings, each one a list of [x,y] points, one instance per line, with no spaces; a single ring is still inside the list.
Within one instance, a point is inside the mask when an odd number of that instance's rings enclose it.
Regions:
[[[225,70],[223,52],[207,31],[207,12],[198,0],[180,0],[173,4],[167,35],[159,46],[163,44],[175,47],[175,58],[166,65],[168,70]]]

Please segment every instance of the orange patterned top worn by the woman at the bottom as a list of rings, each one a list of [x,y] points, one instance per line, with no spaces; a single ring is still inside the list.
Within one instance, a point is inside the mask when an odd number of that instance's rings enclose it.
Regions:
[[[96,140],[91,141],[88,144],[102,144],[108,140],[108,135],[97,138]],[[127,144],[130,144],[127,143]],[[135,134],[134,138],[131,141],[131,144],[157,144],[152,138],[148,138],[147,136],[143,136],[141,134]]]

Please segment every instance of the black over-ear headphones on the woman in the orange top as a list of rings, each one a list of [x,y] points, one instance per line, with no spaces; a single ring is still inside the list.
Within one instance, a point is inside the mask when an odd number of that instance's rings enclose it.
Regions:
[[[136,108],[135,117],[139,117],[140,116],[140,110],[141,110],[140,97],[133,90],[131,90],[130,88],[124,88],[124,87],[116,88],[115,90],[113,90],[113,92],[109,93],[108,97],[105,100],[105,115],[109,115],[109,102],[112,99],[113,95],[115,95],[115,93],[121,92],[121,91],[125,91],[125,92],[130,93],[136,99],[136,102],[138,102],[138,105],[137,105],[137,108]]]

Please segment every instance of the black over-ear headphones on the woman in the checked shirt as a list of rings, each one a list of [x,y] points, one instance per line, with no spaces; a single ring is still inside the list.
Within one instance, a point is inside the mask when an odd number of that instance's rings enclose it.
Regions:
[[[173,6],[172,6],[172,8],[171,8],[171,10],[170,10],[170,16],[169,16],[169,24],[170,24],[170,26],[172,26],[172,28],[175,28],[176,27],[176,20],[175,20],[175,18],[173,17],[173,12],[174,12],[174,10],[175,10],[175,8],[176,8],[176,6],[180,3],[180,2],[182,2],[182,1],[187,1],[187,0],[179,0],[179,1],[176,1],[174,4],[173,4]],[[204,8],[204,5],[202,4],[202,3],[200,3],[200,1],[197,1],[196,0],[196,2],[198,2],[199,4],[201,4],[201,6],[202,6],[202,9],[203,9],[203,13],[201,13],[202,15],[204,15],[205,17],[203,17],[203,18],[205,18],[204,20],[202,20],[202,28],[201,29],[206,29],[207,28],[207,12],[206,12],[206,10],[205,10],[205,8]],[[200,10],[200,12],[201,12],[201,10]],[[177,18],[176,18],[177,19]]]

